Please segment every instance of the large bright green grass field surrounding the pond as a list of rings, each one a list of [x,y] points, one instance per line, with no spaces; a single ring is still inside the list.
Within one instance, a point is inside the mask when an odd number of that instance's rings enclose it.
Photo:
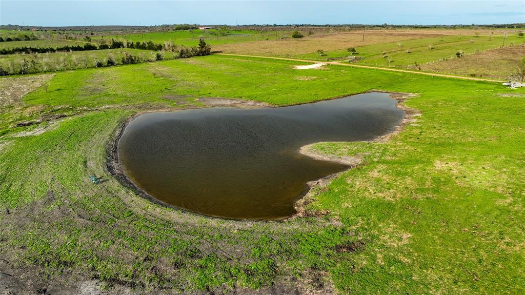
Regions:
[[[525,89],[293,65],[208,56],[0,79],[0,89],[28,83],[20,79],[46,85],[13,98],[0,117],[0,205],[11,212],[0,215],[4,259],[35,280],[74,274],[153,293],[286,278],[318,291],[333,282],[342,294],[525,292]],[[142,199],[105,168],[106,145],[139,111],[201,106],[200,97],[284,106],[371,89],[417,93],[405,105],[421,116],[386,143],[316,145],[363,163],[316,191],[311,217],[182,213]],[[24,121],[36,124],[17,127]],[[107,181],[93,185],[90,174]]]

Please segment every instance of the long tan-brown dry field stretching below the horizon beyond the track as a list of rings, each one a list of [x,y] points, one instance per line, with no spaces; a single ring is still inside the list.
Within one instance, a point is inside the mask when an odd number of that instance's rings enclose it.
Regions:
[[[444,35],[475,35],[480,36],[501,34],[500,30],[452,30],[452,29],[375,29],[366,30],[364,41],[363,31],[354,29],[342,33],[315,33],[304,38],[268,39],[214,46],[214,50],[232,54],[250,54],[266,56],[296,56],[315,52],[319,48],[324,51],[359,47],[372,44],[404,41],[409,39],[431,38]]]

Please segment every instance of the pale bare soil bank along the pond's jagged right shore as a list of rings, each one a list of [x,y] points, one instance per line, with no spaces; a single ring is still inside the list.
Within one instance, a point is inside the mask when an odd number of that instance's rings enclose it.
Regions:
[[[385,92],[385,91],[370,90],[369,92]],[[372,140],[372,142],[377,142],[377,143],[387,142],[393,136],[400,133],[407,124],[412,124],[416,122],[417,121],[416,117],[419,117],[421,115],[421,113],[419,113],[417,110],[408,108],[407,106],[403,104],[405,100],[415,97],[417,96],[417,94],[415,93],[396,93],[396,92],[387,92],[387,93],[391,93],[390,97],[397,100],[397,108],[405,112],[405,117],[403,118],[403,121],[401,121],[400,124],[394,127],[394,130],[392,132],[385,134],[385,135],[381,135],[377,137],[376,139]],[[361,164],[362,157],[359,154],[356,154],[353,156],[321,154],[313,149],[313,145],[318,144],[318,143],[319,142],[302,146],[299,149],[299,153],[312,157],[313,159],[316,159],[316,160],[331,161],[331,162],[345,164],[349,166],[349,169],[355,168],[356,166]],[[309,187],[308,192],[302,198],[298,199],[298,201],[294,204],[294,208],[296,209],[297,213],[289,217],[287,220],[297,218],[297,217],[321,216],[321,215],[328,214],[329,212],[308,212],[308,210],[306,210],[306,206],[312,203],[321,192],[328,189],[327,186],[332,182],[332,180],[339,177],[341,174],[345,173],[346,171],[335,173],[329,176],[325,176],[316,181],[308,182],[308,187]]]

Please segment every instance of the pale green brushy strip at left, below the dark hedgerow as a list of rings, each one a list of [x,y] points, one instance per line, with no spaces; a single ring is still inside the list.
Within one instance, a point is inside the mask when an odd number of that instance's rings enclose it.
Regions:
[[[104,66],[111,57],[116,65],[122,64],[124,52],[139,57],[143,61],[155,60],[156,51],[120,48],[74,52],[55,52],[45,54],[14,54],[0,56],[0,68],[9,73],[18,73],[25,67],[27,73],[93,68],[97,61]],[[172,59],[173,53],[164,52],[165,59]],[[25,60],[25,61],[24,61]],[[34,61],[34,62],[33,62]]]

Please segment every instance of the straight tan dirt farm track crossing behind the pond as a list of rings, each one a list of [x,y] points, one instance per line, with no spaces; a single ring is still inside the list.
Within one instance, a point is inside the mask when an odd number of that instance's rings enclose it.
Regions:
[[[268,58],[268,59],[303,61],[303,62],[316,62],[316,63],[323,63],[323,64],[328,64],[328,65],[345,66],[345,67],[376,69],[376,70],[385,70],[385,71],[393,71],[393,72],[416,73],[416,74],[419,74],[419,75],[426,75],[426,76],[432,76],[432,77],[457,78],[457,79],[464,79],[464,80],[486,81],[486,82],[505,82],[504,80],[475,78],[475,77],[464,77],[464,76],[457,76],[457,75],[447,75],[447,74],[442,74],[442,73],[429,73],[429,72],[420,72],[420,71],[394,69],[394,68],[384,68],[384,67],[375,67],[375,66],[365,66],[365,65],[355,65],[355,64],[342,64],[339,61],[324,61],[323,62],[323,61],[317,61],[317,60],[289,58],[289,57],[271,57],[271,56],[226,54],[226,53],[217,53],[216,55],[239,56],[239,57],[256,57],[256,58]]]

